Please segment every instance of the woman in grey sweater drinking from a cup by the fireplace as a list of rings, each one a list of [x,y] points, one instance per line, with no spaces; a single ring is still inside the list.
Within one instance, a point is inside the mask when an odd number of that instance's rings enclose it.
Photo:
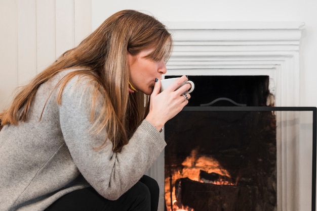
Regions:
[[[162,23],[120,11],[24,86],[0,114],[2,210],[156,210],[143,175],[190,98],[185,76],[160,93],[171,49]]]

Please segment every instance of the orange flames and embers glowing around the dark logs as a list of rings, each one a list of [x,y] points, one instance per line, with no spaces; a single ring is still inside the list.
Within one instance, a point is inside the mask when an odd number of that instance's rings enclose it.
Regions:
[[[222,176],[223,178],[230,178],[229,173],[221,167],[217,160],[213,159],[210,156],[197,156],[197,151],[194,149],[191,151],[191,154],[186,157],[182,163],[183,169],[180,171],[171,172],[171,177],[165,178],[165,200],[167,210],[169,211],[194,211],[193,208],[184,206],[176,200],[175,196],[175,182],[180,178],[189,178],[193,181],[198,182],[210,182],[213,184],[219,185],[232,185],[228,180],[219,179],[217,181],[208,181],[206,179],[200,178],[201,171],[204,171],[208,174],[215,173]],[[170,190],[172,184],[172,192]],[[172,193],[172,196],[171,196]],[[171,201],[172,207],[171,207]]]

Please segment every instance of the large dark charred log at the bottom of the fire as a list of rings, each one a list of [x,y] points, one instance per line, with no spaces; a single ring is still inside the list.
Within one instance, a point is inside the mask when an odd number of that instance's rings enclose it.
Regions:
[[[176,182],[178,203],[195,211],[257,210],[255,187],[214,185],[181,178]]]

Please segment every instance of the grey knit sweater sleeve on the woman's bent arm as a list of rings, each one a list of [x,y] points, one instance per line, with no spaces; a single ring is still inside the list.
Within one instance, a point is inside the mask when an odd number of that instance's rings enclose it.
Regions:
[[[74,77],[68,82],[59,107],[60,124],[78,170],[100,195],[115,200],[145,174],[166,142],[154,126],[143,120],[121,152],[114,153],[109,140],[105,147],[96,149],[105,141],[106,131],[94,134],[91,130],[93,90],[87,79]],[[96,101],[97,115],[101,97]]]

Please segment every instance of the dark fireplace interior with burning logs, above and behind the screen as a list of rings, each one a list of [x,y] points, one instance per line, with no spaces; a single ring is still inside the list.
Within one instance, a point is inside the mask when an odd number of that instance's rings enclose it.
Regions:
[[[187,107],[267,106],[270,95],[268,76],[188,79]],[[273,112],[182,111],[164,130],[166,210],[276,210]]]

